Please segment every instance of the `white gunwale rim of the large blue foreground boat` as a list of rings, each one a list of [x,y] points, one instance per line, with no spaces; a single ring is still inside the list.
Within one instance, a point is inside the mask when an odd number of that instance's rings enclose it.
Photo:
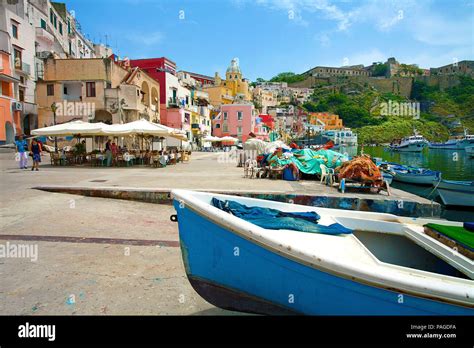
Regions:
[[[192,195],[189,195],[190,193]],[[342,264],[335,262],[335,260],[324,260],[320,257],[316,257],[316,255],[308,255],[307,253],[295,250],[290,245],[284,245],[282,243],[278,243],[277,241],[271,240],[267,236],[262,235],[261,231],[264,231],[265,229],[245,220],[242,220],[238,217],[230,215],[212,206],[209,203],[201,201],[196,198],[195,195],[211,195],[212,197],[231,200],[241,199],[246,202],[264,202],[264,200],[187,190],[173,190],[171,192],[172,198],[176,199],[180,203],[184,203],[186,208],[194,211],[204,219],[210,220],[212,223],[215,223],[216,225],[219,225],[220,227],[235,233],[239,237],[249,240],[252,243],[255,243],[267,250],[270,250],[271,252],[283,255],[284,257],[291,259],[292,261],[320,270],[322,272],[326,272],[328,274],[336,275],[338,277],[342,277],[351,281],[356,281],[358,283],[381,288],[395,293],[404,293],[424,299],[431,299],[440,302],[446,302],[450,304],[474,308],[474,291],[472,291],[472,293],[470,294],[465,292],[466,285],[474,285],[472,280],[456,278],[438,273],[432,273],[419,269],[408,268],[396,264],[382,262],[370,250],[368,250],[367,247],[356,236],[347,236],[353,237],[354,240],[357,242],[358,246],[365,249],[367,256],[370,257],[373,260],[374,264],[377,266],[376,268],[378,272],[374,272],[373,269],[367,272],[362,272],[360,268],[351,267],[353,266],[353,264]],[[286,204],[282,202],[273,201],[271,203],[277,206],[281,206],[282,208]],[[291,206],[298,207],[299,211],[320,211],[321,213],[331,211],[334,213],[334,211],[337,211],[337,209],[308,207],[296,204],[291,204]],[[409,227],[407,226],[409,224],[414,224],[414,221],[417,222],[414,225],[423,225],[428,222],[433,222],[433,219],[404,218],[384,213],[344,211],[344,214],[355,215],[354,217],[356,217],[356,215],[362,214],[366,217],[371,216],[371,219],[378,220],[379,222],[399,223],[400,230],[402,228]],[[448,225],[459,225],[454,222],[444,220],[442,222],[443,224]],[[370,232],[370,230],[365,231]],[[295,231],[292,232],[303,233]],[[400,234],[403,234],[403,232],[400,232]],[[345,238],[346,236],[331,237]],[[406,276],[403,282],[400,280],[399,277],[397,277],[397,272],[403,272],[403,274]],[[424,280],[423,284],[419,284],[420,278]],[[411,279],[412,282],[408,282],[407,279]],[[418,283],[416,283],[415,280],[418,281]],[[430,284],[425,284],[426,282],[431,283],[431,286],[429,286]],[[394,287],[394,283],[397,283],[398,286]],[[447,284],[450,285],[449,291],[446,289]],[[426,289],[428,288],[431,289],[430,292],[426,291]]]

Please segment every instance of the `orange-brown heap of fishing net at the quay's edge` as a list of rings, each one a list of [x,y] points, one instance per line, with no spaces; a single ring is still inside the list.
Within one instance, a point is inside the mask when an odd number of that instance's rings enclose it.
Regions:
[[[380,169],[368,155],[356,156],[352,160],[344,162],[336,168],[336,173],[339,180],[353,180],[376,187],[383,184]]]

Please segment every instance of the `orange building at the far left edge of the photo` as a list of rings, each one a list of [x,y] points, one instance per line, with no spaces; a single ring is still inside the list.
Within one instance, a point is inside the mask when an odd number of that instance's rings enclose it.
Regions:
[[[21,107],[17,107],[13,92],[14,84],[20,81],[12,74],[9,39],[7,33],[0,31],[0,144],[13,143],[15,132],[21,134]]]

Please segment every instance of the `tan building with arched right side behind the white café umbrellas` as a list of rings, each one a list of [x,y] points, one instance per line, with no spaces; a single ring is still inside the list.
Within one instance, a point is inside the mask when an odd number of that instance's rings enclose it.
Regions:
[[[78,119],[108,124],[140,118],[159,122],[159,90],[157,81],[130,68],[127,61],[50,58],[36,84],[39,124]]]

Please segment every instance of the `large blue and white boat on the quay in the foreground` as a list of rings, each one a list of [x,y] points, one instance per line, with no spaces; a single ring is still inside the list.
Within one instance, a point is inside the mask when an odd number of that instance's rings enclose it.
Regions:
[[[473,261],[424,232],[424,225],[439,220],[185,190],[171,194],[187,277],[218,307],[263,314],[474,315]],[[216,201],[251,211],[316,213],[320,229],[336,224],[350,232],[263,228]]]

